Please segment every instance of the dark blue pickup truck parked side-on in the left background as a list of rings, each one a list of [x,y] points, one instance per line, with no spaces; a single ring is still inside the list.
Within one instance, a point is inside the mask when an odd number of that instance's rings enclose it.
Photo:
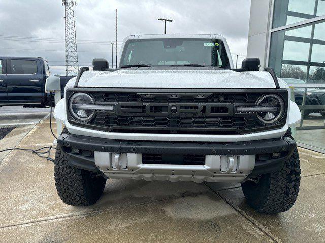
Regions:
[[[0,106],[49,106],[50,96],[44,92],[49,75],[49,65],[42,57],[0,56]],[[64,86],[71,78],[60,76],[62,97]]]

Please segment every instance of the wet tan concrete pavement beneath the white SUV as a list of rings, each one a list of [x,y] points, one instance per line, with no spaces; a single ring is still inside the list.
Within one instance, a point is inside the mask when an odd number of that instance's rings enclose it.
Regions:
[[[19,147],[52,141],[46,119]],[[225,183],[110,179],[98,203],[73,207],[56,194],[51,162],[12,151],[0,163],[0,242],[325,242],[325,155],[299,151],[298,201],[276,215]]]

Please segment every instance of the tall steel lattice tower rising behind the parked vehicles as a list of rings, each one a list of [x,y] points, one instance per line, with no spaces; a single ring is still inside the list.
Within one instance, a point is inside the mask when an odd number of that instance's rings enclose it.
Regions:
[[[73,0],[62,0],[62,5],[65,10],[64,19],[66,22],[66,75],[76,76],[79,65],[73,6],[77,3]]]

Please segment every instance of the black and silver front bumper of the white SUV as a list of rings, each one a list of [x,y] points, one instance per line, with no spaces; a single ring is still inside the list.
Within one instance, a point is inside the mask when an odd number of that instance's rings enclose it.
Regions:
[[[93,172],[101,171],[109,178],[131,178],[170,181],[244,181],[248,175],[279,170],[291,156],[296,143],[289,137],[246,142],[161,142],[125,141],[62,134],[57,142],[71,166]],[[77,152],[76,152],[77,151]],[[278,153],[277,158],[272,154]],[[127,167],[116,169],[111,158],[126,154]],[[205,155],[202,165],[144,164],[142,154]],[[232,156],[236,169],[226,173],[222,160]],[[269,156],[269,157],[268,157]]]

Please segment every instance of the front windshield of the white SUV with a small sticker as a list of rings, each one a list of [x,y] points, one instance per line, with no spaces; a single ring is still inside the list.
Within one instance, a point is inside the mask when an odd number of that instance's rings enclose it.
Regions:
[[[121,57],[122,65],[153,66],[198,64],[230,68],[222,41],[218,39],[129,40]]]

